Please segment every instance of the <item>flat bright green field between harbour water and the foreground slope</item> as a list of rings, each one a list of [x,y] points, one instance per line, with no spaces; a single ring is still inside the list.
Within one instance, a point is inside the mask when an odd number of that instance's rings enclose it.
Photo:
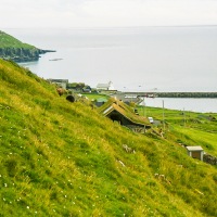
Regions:
[[[158,119],[165,133],[176,136],[186,145],[201,145],[205,152],[217,156],[217,114],[193,113],[175,110],[145,107],[146,116]],[[139,106],[143,115],[143,107]],[[163,115],[164,113],[164,115]],[[163,117],[164,116],[164,117]]]

